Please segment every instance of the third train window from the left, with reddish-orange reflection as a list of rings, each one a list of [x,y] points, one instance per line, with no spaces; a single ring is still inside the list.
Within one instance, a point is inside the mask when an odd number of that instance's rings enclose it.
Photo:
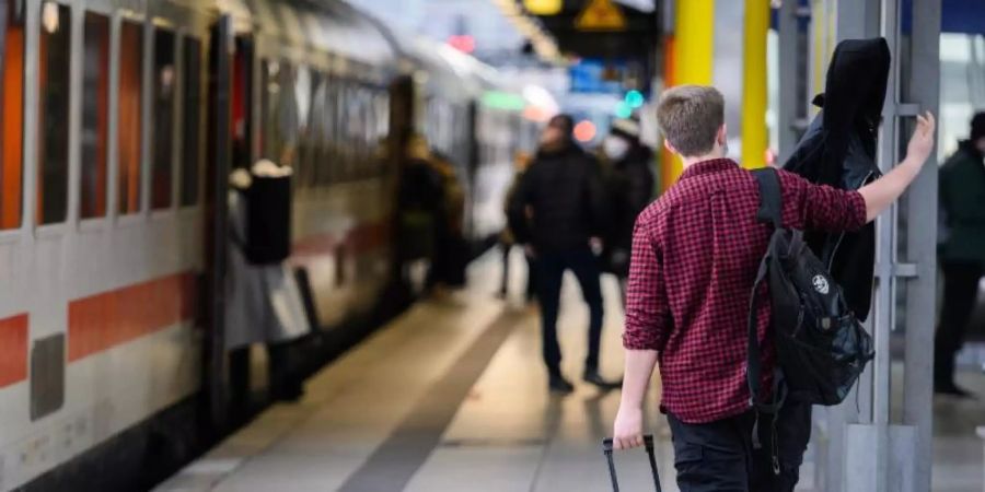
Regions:
[[[82,67],[82,219],[106,214],[106,141],[109,134],[109,17],[85,13]]]

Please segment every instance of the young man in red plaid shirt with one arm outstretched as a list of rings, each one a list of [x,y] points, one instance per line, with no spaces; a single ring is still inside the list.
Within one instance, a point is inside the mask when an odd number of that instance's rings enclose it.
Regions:
[[[642,399],[659,360],[661,410],[673,434],[682,491],[792,491],[810,440],[810,406],[787,402],[773,435],[772,425],[754,425],[745,380],[749,296],[770,232],[756,221],[755,177],[723,159],[725,102],[717,90],[671,89],[658,112],[665,145],[685,169],[640,214],[634,233],[615,447],[642,443]],[[874,220],[919,173],[934,148],[934,126],[931,115],[920,116],[906,159],[859,191],[814,186],[779,172],[784,225],[842,231]],[[763,374],[772,375],[768,297],[760,304]],[[754,426],[761,449],[752,445]]]

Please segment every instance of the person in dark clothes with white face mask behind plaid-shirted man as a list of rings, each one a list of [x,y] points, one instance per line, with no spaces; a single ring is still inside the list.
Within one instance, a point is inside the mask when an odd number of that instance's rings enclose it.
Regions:
[[[602,142],[603,160],[609,164],[609,189],[613,225],[605,241],[605,268],[619,279],[619,294],[626,300],[629,250],[636,218],[653,199],[653,151],[639,141],[639,122],[616,119]]]

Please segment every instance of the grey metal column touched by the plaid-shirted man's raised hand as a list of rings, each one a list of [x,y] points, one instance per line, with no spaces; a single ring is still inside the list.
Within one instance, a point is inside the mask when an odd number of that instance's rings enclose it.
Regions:
[[[900,28],[900,0],[842,0],[838,5],[838,38],[871,37],[878,25],[893,55],[878,151],[883,172],[902,159],[901,143],[908,139],[913,117],[922,110],[938,110],[940,0],[913,4],[909,43]],[[904,206],[894,206],[877,225],[878,285],[871,324],[877,358],[865,376],[869,384],[861,385],[860,393],[869,407],[859,415],[861,423],[845,427],[847,453],[841,467],[844,481],[841,488],[827,490],[930,490],[932,351],[928,348],[934,344],[936,235],[927,231],[937,227],[935,164],[925,167],[904,197]],[[901,218],[906,224],[904,235],[899,233]],[[896,306],[901,291],[905,293],[906,306],[902,415],[895,414],[892,407],[894,364],[890,344],[899,326]],[[895,365],[899,368],[900,364]]]

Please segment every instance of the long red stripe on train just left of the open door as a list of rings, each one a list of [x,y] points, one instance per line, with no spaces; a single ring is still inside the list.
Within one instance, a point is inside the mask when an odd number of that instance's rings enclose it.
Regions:
[[[183,272],[72,301],[69,362],[190,319],[194,300],[195,276]]]

